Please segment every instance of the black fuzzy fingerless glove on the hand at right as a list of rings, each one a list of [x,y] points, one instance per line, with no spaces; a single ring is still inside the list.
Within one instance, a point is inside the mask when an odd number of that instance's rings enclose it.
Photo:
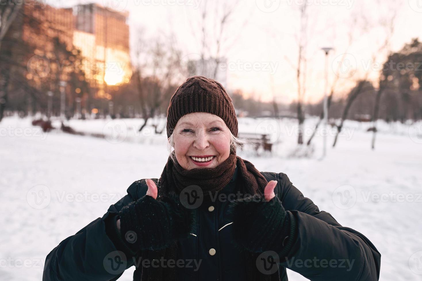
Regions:
[[[251,252],[275,251],[279,255],[289,252],[295,236],[295,220],[277,196],[270,201],[258,194],[238,199],[231,204],[230,212],[238,246]]]

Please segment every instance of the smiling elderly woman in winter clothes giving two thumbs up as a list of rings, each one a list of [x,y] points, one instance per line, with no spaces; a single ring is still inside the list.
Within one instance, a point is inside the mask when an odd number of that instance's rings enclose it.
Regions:
[[[379,279],[381,254],[341,226],[284,173],[236,156],[231,98],[203,76],[186,80],[168,107],[174,150],[161,177],[135,181],[108,212],[60,242],[43,280],[134,281]]]

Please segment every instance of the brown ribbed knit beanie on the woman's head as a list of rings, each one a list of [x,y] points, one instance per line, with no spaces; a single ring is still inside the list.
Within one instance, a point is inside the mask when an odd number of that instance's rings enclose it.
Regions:
[[[238,136],[238,120],[232,99],[217,81],[204,76],[189,77],[170,99],[167,109],[167,137],[173,133],[177,121],[192,112],[215,114]]]

